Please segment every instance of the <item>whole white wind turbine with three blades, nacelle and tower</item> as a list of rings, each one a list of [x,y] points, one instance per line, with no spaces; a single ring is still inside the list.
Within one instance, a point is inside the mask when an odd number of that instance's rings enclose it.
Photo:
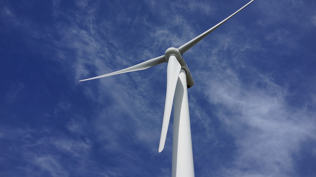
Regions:
[[[167,93],[165,111],[163,115],[161,137],[158,151],[161,152],[165,146],[168,124],[171,114],[171,106],[174,98],[173,107],[173,147],[172,147],[172,177],[193,177],[193,153],[192,153],[192,140],[191,140],[191,127],[189,116],[189,102],[187,88],[194,85],[191,72],[186,65],[182,55],[188,51],[195,44],[200,42],[204,37],[209,35],[217,27],[221,26],[224,22],[237,14],[240,10],[244,9],[247,5],[254,0],[247,3],[244,7],[237,10],[234,14],[227,17],[214,27],[205,31],[201,35],[195,37],[191,41],[185,43],[178,49],[169,48],[164,55],[157,58],[147,60],[129,68],[125,68],[120,71],[115,71],[102,76],[92,77],[80,81],[86,81],[96,79],[100,77],[112,76],[131,71],[139,71],[148,69],[152,66],[159,65],[161,63],[168,63],[167,66]],[[80,82],[79,81],[79,82]]]

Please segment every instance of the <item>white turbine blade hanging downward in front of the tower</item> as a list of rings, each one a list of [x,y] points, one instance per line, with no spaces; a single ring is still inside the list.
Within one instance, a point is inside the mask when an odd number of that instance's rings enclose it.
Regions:
[[[170,120],[171,108],[173,103],[174,92],[176,89],[179,73],[181,70],[181,65],[179,64],[177,58],[173,55],[169,57],[167,66],[167,93],[166,93],[166,103],[165,112],[163,114],[161,136],[158,151],[161,152],[165,146],[168,125]]]

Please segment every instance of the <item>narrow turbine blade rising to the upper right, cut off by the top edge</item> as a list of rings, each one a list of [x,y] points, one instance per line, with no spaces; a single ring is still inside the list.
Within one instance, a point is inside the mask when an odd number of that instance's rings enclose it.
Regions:
[[[254,1],[254,0],[252,0]],[[250,3],[252,3],[252,1],[250,1],[249,3],[247,3],[244,7],[240,8],[239,10],[237,10],[234,14],[230,15],[229,17],[227,17],[225,20],[221,21],[220,23],[218,23],[217,25],[213,26],[212,28],[210,28],[209,30],[205,31],[204,33],[200,34],[199,36],[197,36],[196,38],[192,39],[191,41],[185,43],[184,45],[182,45],[181,47],[179,47],[178,49],[182,52],[182,54],[184,54],[186,51],[188,51],[189,49],[191,49],[191,47],[193,47],[195,44],[197,44],[198,42],[200,42],[204,37],[206,37],[207,35],[209,35],[211,32],[213,32],[217,27],[221,26],[223,23],[225,23],[228,19],[230,19],[232,16],[234,16],[235,14],[237,14],[240,10],[244,9],[247,5],[249,5]]]

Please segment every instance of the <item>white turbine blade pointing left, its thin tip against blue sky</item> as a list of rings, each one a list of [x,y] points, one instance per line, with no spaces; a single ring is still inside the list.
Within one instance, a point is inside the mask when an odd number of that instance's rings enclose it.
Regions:
[[[97,77],[92,77],[92,78],[89,78],[89,79],[80,80],[79,82],[87,81],[87,80],[91,80],[91,79],[97,79],[97,78],[100,78],[100,77],[112,76],[112,75],[115,75],[115,74],[122,74],[122,73],[125,73],[125,72],[144,70],[144,69],[148,69],[148,68],[150,68],[152,66],[159,65],[159,64],[164,63],[164,62],[166,62],[165,59],[164,59],[164,55],[161,55],[160,57],[144,61],[143,63],[137,64],[135,66],[131,66],[129,68],[125,68],[125,69],[122,69],[122,70],[119,70],[119,71],[111,72],[109,74],[105,74],[105,75],[102,75],[102,76],[97,76]]]

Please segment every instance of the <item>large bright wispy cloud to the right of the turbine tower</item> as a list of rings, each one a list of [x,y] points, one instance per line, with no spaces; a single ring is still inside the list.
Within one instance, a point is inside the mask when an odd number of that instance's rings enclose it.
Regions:
[[[217,105],[216,116],[237,146],[235,167],[224,168],[224,174],[288,176],[287,173],[293,173],[292,154],[300,151],[306,140],[316,138],[313,113],[290,108],[285,101],[286,89],[271,82],[268,76],[254,75],[249,87],[234,71],[217,70],[221,72],[213,73],[201,90],[210,105]],[[199,74],[208,77],[207,73]]]

